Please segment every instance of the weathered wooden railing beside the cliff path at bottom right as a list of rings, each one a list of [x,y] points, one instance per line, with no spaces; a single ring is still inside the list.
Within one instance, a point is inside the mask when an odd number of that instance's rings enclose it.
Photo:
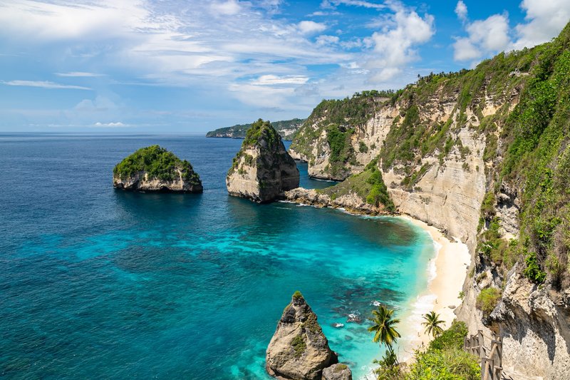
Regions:
[[[482,330],[476,335],[465,338],[463,349],[481,359],[481,380],[500,380],[503,363],[503,339],[493,334],[491,348],[484,346]]]

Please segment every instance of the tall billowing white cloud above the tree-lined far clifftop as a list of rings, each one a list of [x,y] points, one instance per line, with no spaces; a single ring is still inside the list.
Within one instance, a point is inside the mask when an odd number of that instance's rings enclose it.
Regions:
[[[394,78],[403,67],[418,58],[415,47],[430,40],[435,33],[434,18],[419,16],[415,10],[392,4],[395,14],[386,21],[381,32],[371,36],[375,56],[366,64],[373,71],[371,81],[385,82]]]

